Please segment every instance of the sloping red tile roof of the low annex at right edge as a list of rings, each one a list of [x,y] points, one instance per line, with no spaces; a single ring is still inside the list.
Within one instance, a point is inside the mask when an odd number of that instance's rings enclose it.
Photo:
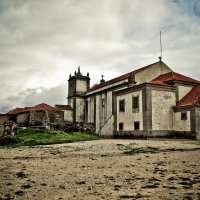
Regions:
[[[195,86],[178,103],[178,107],[189,106],[198,103],[200,98],[200,85]]]

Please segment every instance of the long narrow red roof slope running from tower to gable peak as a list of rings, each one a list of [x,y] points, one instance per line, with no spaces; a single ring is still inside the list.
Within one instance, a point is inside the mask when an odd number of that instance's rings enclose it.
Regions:
[[[160,61],[159,61],[159,62],[160,62]],[[119,81],[123,81],[123,80],[125,80],[125,79],[128,79],[131,75],[137,74],[138,72],[141,72],[141,71],[147,69],[148,67],[151,67],[152,65],[155,65],[155,64],[157,64],[157,63],[158,63],[158,62],[155,62],[155,63],[153,63],[153,64],[147,65],[147,66],[142,67],[142,68],[137,69],[137,70],[134,70],[134,71],[132,71],[132,72],[129,72],[129,73],[124,74],[124,75],[122,75],[122,76],[119,76],[119,77],[117,77],[117,78],[111,79],[111,80],[109,80],[109,81],[106,81],[106,82],[103,82],[103,83],[100,83],[100,84],[95,84],[93,87],[91,87],[91,88],[89,89],[89,92],[94,91],[94,90],[97,90],[97,89],[100,89],[100,88],[102,88],[102,87],[105,87],[105,86],[107,86],[107,85],[110,85],[110,84],[113,84],[113,83],[116,83],[116,82],[119,82]]]

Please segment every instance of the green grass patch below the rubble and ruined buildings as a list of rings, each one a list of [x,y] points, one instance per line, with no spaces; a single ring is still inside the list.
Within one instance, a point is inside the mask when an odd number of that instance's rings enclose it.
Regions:
[[[19,147],[19,146],[35,146],[47,144],[60,144],[76,141],[97,140],[102,137],[88,132],[72,132],[65,133],[61,131],[42,131],[35,129],[25,129],[16,133],[14,138],[7,143],[1,143],[1,146]]]

